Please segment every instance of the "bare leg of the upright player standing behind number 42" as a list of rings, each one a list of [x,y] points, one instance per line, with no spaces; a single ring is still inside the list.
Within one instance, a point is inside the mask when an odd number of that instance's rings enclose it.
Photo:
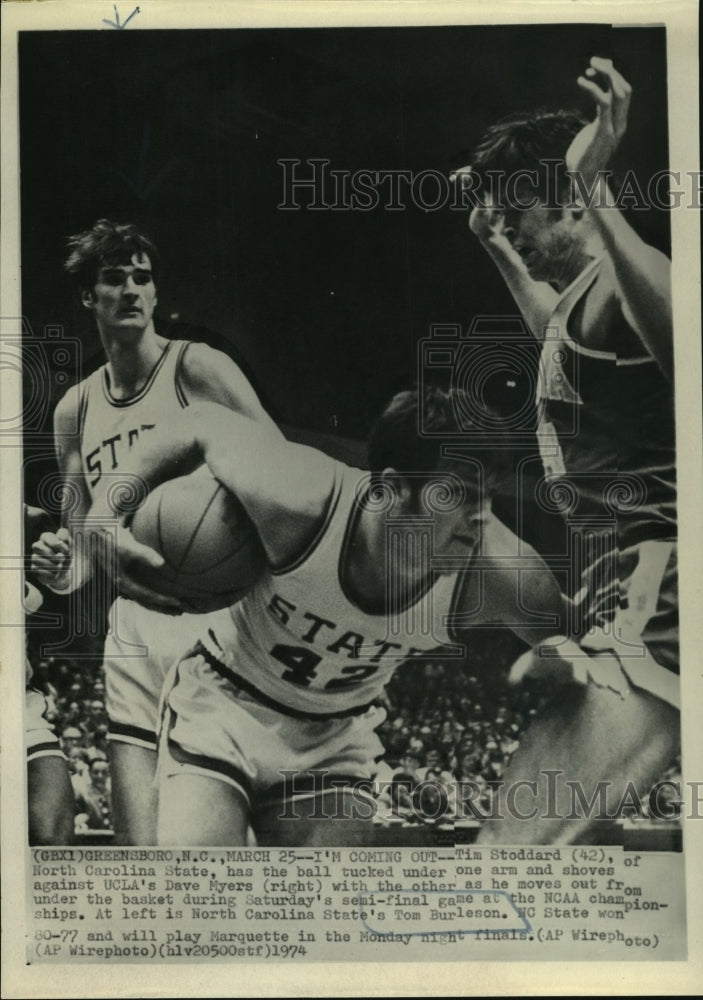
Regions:
[[[156,751],[110,743],[112,821],[116,844],[155,844],[158,795]]]

